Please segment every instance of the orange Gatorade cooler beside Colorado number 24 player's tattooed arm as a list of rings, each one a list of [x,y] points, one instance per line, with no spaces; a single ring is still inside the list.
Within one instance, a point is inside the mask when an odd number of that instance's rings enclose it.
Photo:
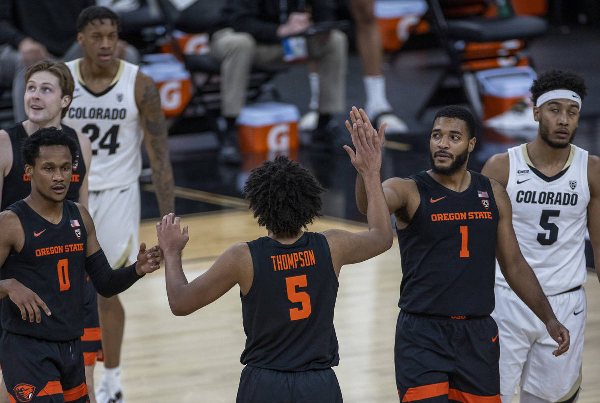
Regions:
[[[158,86],[164,115],[178,116],[191,100],[190,72],[173,55],[146,55],[143,61],[148,64],[142,65],[140,71]]]

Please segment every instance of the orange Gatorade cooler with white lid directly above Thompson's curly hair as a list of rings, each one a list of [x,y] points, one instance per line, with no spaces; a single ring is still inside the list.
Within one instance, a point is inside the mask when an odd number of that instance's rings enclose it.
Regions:
[[[242,151],[285,151],[298,148],[298,107],[277,102],[245,107],[239,114],[238,137]]]

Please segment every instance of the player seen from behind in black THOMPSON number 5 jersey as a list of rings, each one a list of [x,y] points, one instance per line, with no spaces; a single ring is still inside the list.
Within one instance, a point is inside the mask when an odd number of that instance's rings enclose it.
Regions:
[[[248,337],[238,402],[342,401],[331,369],[340,360],[333,323],[338,276],[344,264],[378,255],[393,240],[379,176],[384,131],[385,125],[379,136],[358,121],[352,128],[356,152],[344,146],[365,178],[368,231],[303,231],[320,215],[324,189],[284,156],[254,169],[244,189],[268,236],[233,245],[189,284],[181,266],[187,226],[182,233],[172,214],[157,224],[174,314],[191,314],[239,284]]]

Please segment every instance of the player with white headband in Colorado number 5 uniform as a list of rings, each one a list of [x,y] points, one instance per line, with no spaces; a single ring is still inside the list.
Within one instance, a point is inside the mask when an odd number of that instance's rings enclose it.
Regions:
[[[600,273],[600,158],[572,145],[586,85],[565,71],[541,74],[531,88],[539,122],[531,143],[490,158],[482,173],[503,184],[521,251],[559,321],[571,330],[571,350],[559,357],[544,324],[496,270],[502,403],[521,379],[521,403],[577,401],[581,386],[587,301],[586,227]]]

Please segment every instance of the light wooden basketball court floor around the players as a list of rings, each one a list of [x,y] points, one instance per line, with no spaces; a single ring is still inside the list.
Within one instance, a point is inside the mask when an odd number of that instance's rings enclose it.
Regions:
[[[240,200],[241,201],[241,200]],[[142,222],[140,240],[157,242],[157,219]],[[243,207],[184,215],[190,242],[184,251],[189,281],[208,269],[236,242],[266,235]],[[366,224],[323,217],[313,231],[364,230]],[[389,251],[364,263],[344,266],[335,309],[340,365],[335,372],[346,402],[397,402],[394,335],[399,312],[400,252]],[[600,285],[595,272],[586,283],[589,312],[580,403],[600,401]],[[128,403],[235,402],[244,348],[239,288],[185,317],[170,312],[164,267],[122,294],[127,312],[122,350],[123,386]],[[95,376],[100,379],[102,365]],[[548,371],[555,371],[548,368]],[[514,402],[517,402],[515,397]]]

